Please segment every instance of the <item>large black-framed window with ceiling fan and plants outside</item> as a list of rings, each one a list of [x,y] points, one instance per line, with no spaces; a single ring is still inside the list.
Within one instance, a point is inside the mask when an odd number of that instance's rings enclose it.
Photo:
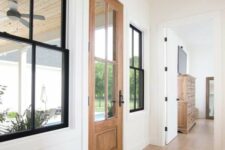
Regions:
[[[0,3],[0,142],[68,127],[66,0]]]

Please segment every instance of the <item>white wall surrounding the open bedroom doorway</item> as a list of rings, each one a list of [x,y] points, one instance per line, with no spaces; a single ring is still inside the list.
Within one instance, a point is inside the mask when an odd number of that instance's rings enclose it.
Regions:
[[[205,15],[215,21],[214,26],[216,38],[215,46],[215,60],[216,60],[216,81],[215,91],[216,95],[216,112],[215,112],[215,150],[225,149],[225,129],[222,127],[225,125],[225,120],[222,119],[222,114],[225,113],[225,94],[221,89],[225,87],[225,1],[223,0],[151,0],[150,8],[150,20],[151,20],[151,44],[150,44],[150,72],[151,72],[151,84],[155,89],[151,92],[151,105],[150,105],[150,120],[154,122],[150,124],[150,137],[151,144],[164,145],[165,133],[164,133],[164,97],[162,96],[164,81],[163,79],[163,63],[161,57],[163,55],[162,37],[163,26],[168,21],[174,21],[185,17],[195,15]],[[178,13],[179,12],[179,13]],[[222,29],[222,30],[221,30]],[[221,37],[221,38],[220,38]],[[223,43],[223,44],[222,44]],[[152,66],[154,64],[155,66]],[[157,67],[156,67],[157,66]],[[153,115],[154,114],[154,115]],[[152,131],[152,132],[151,132]]]

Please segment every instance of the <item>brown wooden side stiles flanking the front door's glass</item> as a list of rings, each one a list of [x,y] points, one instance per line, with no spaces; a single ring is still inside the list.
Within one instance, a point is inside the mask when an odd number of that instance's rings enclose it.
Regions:
[[[88,105],[89,105],[89,123],[88,123],[88,132],[89,132],[89,142],[88,142],[88,148],[89,150],[95,150],[93,146],[95,145],[94,142],[94,130],[95,130],[95,121],[94,121],[94,100],[95,100],[95,79],[94,79],[94,72],[95,72],[95,67],[94,67],[94,61],[95,61],[95,55],[94,55],[94,46],[95,46],[95,2],[96,0],[89,0],[89,55],[88,55],[88,69],[89,69],[89,74],[88,74]],[[117,10],[117,20],[116,22],[119,22],[116,24],[116,29],[118,33],[121,33],[120,35],[116,35],[117,39],[117,44],[116,44],[116,49],[117,49],[117,87],[115,93],[118,95],[116,98],[116,105],[119,105],[119,91],[123,90],[123,5],[120,3],[118,0],[105,0],[105,2],[110,3],[115,10]],[[118,65],[120,64],[120,65]],[[117,120],[120,122],[120,125],[118,127],[117,134],[119,135],[119,139],[117,139],[117,145],[118,149],[117,150],[122,150],[123,149],[123,106],[118,107],[116,110],[117,115]],[[120,114],[120,115],[119,115]],[[101,124],[101,122],[99,123]]]

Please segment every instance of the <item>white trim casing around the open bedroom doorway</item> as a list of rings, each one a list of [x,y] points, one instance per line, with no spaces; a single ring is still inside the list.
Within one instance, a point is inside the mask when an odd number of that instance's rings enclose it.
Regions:
[[[195,14],[195,15],[190,15],[190,16],[182,16],[179,19],[175,19],[175,20],[168,20],[165,21],[161,24],[158,25],[160,32],[157,34],[159,35],[160,39],[160,44],[159,47],[161,49],[163,49],[164,46],[164,40],[162,40],[164,38],[164,28],[171,28],[177,25],[182,25],[185,24],[186,22],[190,22],[190,21],[199,21],[199,20],[204,20],[204,19],[211,19],[213,22],[213,48],[215,49],[214,51],[214,59],[215,59],[215,99],[217,101],[215,101],[215,116],[214,116],[214,149],[221,149],[221,128],[223,128],[223,126],[221,125],[221,120],[220,119],[220,114],[223,114],[224,110],[222,109],[221,106],[223,106],[222,103],[222,97],[223,94],[221,92],[221,88],[223,87],[222,85],[222,48],[221,48],[221,16],[220,13],[216,12],[216,11],[212,11],[209,13],[202,13],[202,14]],[[159,49],[160,50],[160,49]],[[164,54],[164,51],[160,51],[160,54]],[[164,70],[163,70],[164,71]],[[163,71],[160,71],[161,73]],[[164,85],[161,83],[160,87],[164,87]],[[160,97],[160,98],[164,98],[164,97]],[[163,104],[165,102],[163,101]],[[162,137],[160,139],[160,142],[163,143],[162,146],[165,145],[165,136],[166,136],[166,132],[164,132],[164,127],[166,126],[166,107],[165,105],[162,105],[160,107],[161,109],[163,109],[163,114],[162,114],[162,119],[160,119],[160,124],[162,125],[162,128],[160,130],[161,134],[159,137]]]

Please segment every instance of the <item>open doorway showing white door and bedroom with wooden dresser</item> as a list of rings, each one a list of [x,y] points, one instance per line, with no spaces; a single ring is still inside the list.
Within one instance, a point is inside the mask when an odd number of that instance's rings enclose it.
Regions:
[[[218,94],[214,88],[218,67],[217,26],[213,15],[189,17],[165,25],[165,143],[168,147],[181,142],[193,149],[213,149],[214,101]]]

